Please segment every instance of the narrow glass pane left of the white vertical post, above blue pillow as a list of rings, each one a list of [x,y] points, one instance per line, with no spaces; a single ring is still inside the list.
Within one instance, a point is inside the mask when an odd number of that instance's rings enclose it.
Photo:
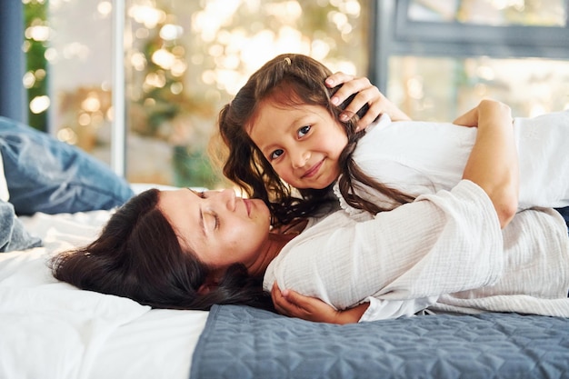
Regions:
[[[53,32],[45,53],[54,99],[50,124],[55,136],[109,165],[111,12],[110,2],[49,2]]]

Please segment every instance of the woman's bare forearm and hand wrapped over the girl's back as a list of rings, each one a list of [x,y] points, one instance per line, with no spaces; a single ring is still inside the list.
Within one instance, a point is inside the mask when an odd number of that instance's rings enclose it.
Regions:
[[[518,205],[519,167],[512,122],[510,107],[491,100],[483,100],[454,121],[478,126],[463,179],[488,194],[502,228],[514,218]]]

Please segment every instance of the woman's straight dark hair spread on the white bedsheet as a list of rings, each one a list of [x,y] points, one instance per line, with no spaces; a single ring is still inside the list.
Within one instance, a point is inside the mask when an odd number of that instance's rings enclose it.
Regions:
[[[198,291],[209,270],[178,242],[158,208],[159,194],[150,189],[136,195],[111,216],[95,242],[55,255],[55,278],[155,308],[208,310],[213,304],[249,304],[271,309],[262,278],[250,276],[243,264],[230,266],[209,292]]]

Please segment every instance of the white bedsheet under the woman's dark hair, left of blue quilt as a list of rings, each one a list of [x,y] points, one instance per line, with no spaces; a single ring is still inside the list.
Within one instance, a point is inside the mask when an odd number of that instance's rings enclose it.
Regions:
[[[151,310],[59,283],[46,262],[92,241],[107,211],[23,219],[44,247],[0,254],[0,378],[187,379],[207,312]]]

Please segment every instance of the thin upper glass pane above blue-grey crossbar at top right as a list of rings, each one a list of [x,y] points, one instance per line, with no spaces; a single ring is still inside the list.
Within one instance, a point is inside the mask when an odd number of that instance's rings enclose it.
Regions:
[[[411,0],[414,21],[479,25],[566,25],[567,0]]]

